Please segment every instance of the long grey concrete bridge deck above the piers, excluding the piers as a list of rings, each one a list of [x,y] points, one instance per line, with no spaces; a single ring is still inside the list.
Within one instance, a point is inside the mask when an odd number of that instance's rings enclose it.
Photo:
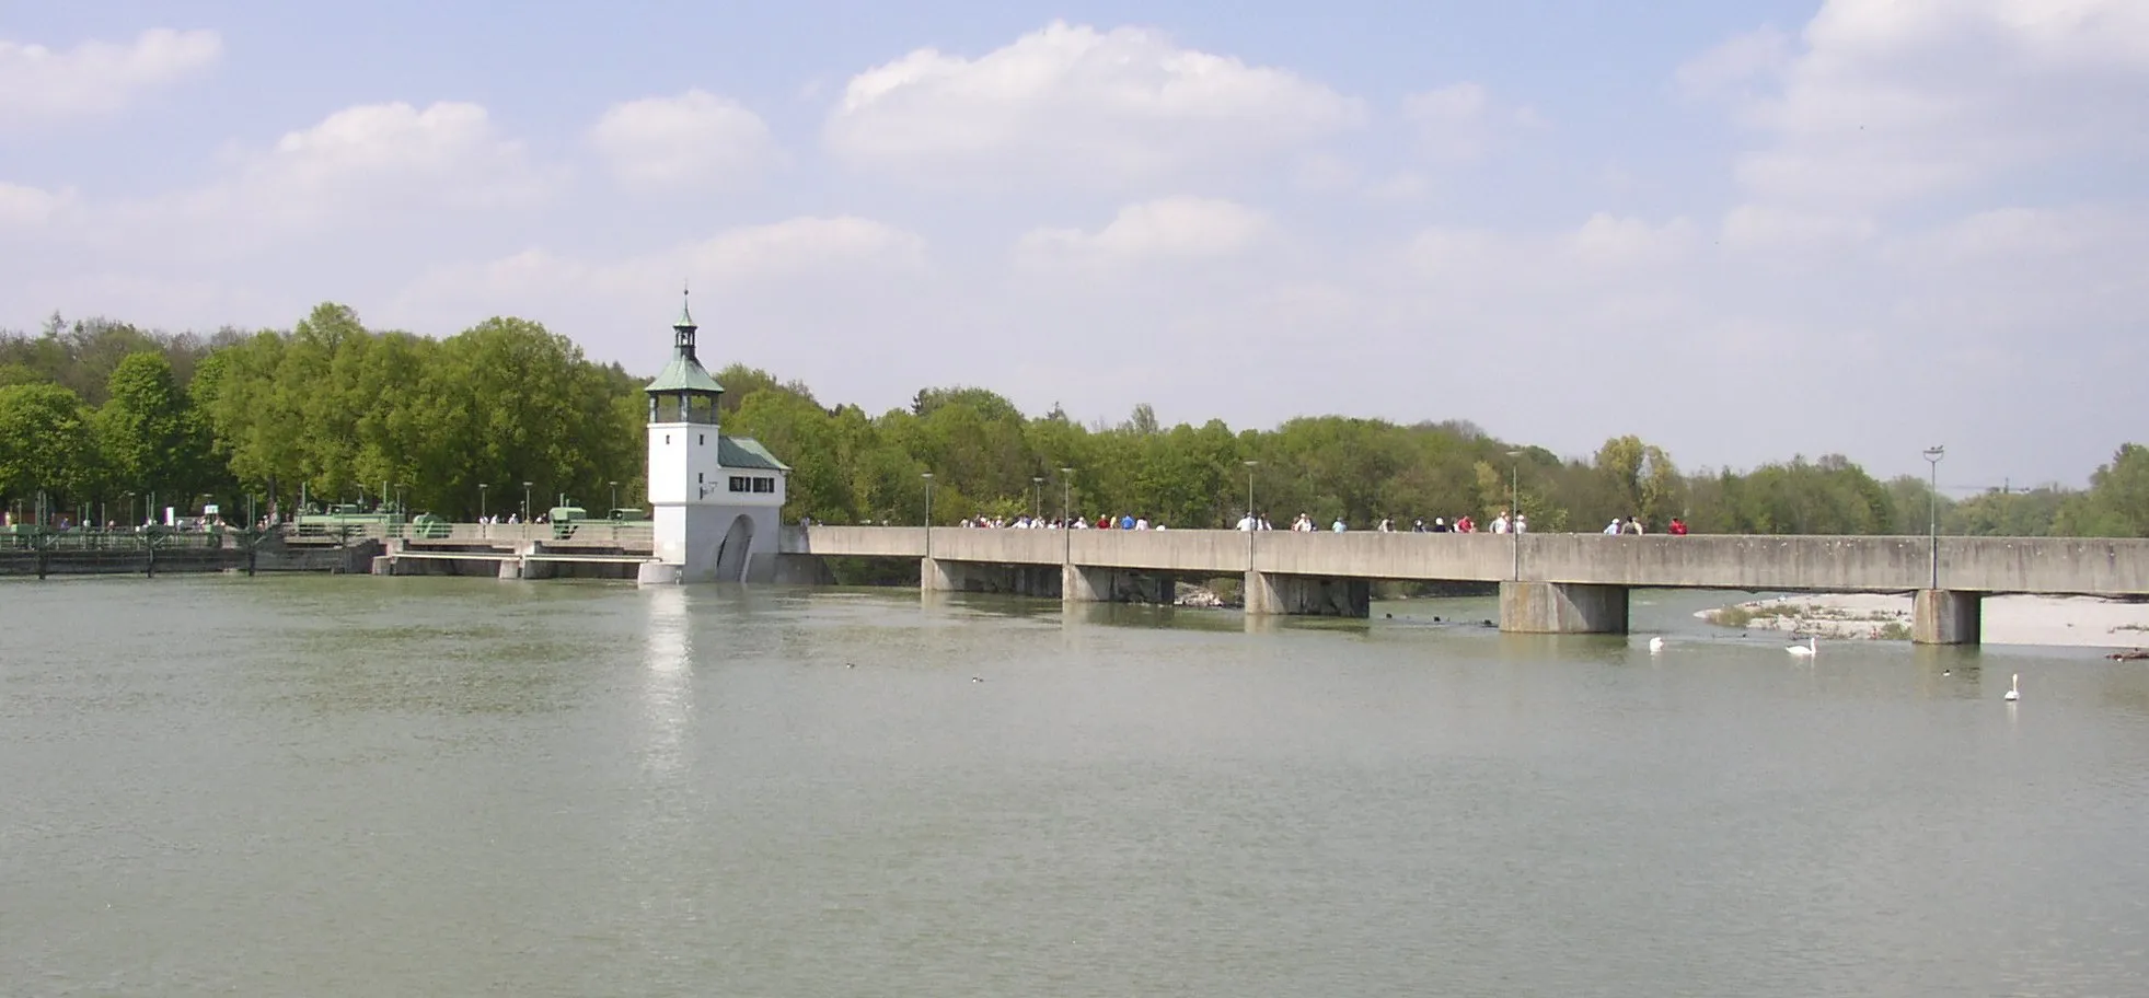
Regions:
[[[2149,541],[2044,537],[1298,534],[1238,530],[784,528],[791,556],[1083,564],[1158,573],[1564,582],[1792,592],[2149,597]]]

